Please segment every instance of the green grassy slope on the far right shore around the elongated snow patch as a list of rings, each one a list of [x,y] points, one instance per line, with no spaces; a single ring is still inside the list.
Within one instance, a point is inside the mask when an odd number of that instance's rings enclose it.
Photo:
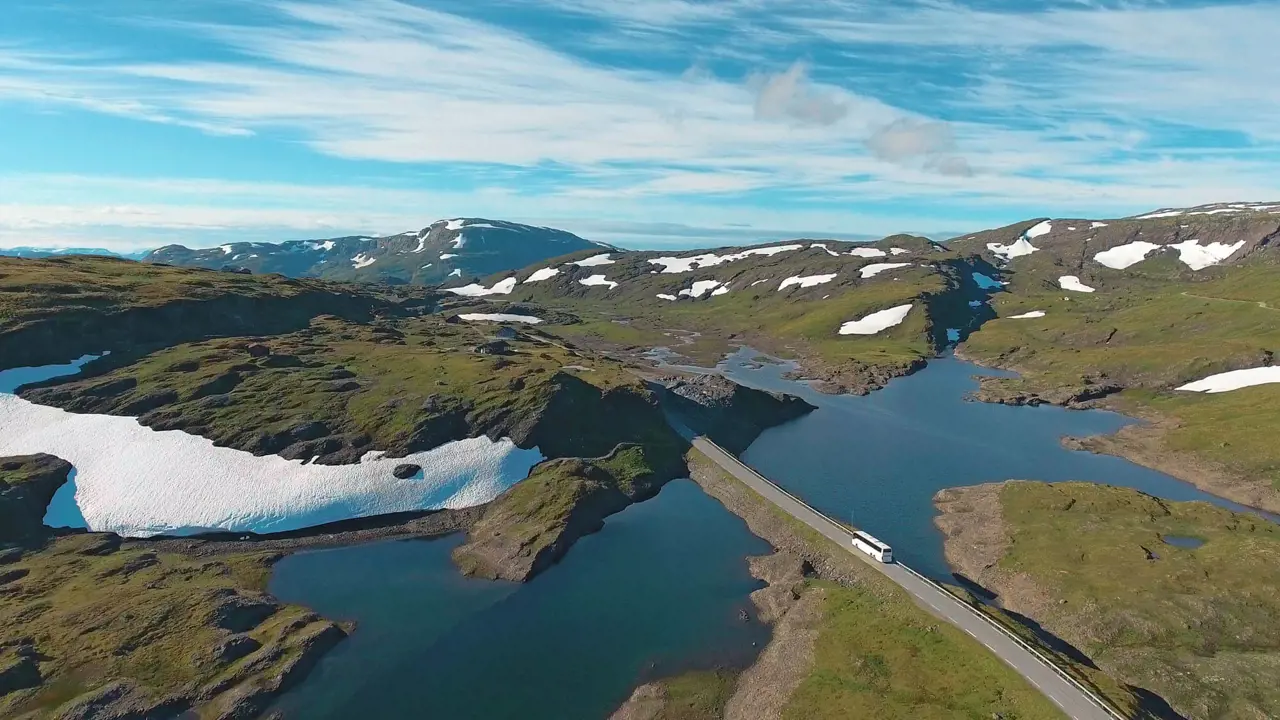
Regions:
[[[1265,361],[1280,350],[1280,268],[1217,268],[1197,283],[1135,279],[1128,288],[1093,295],[1015,282],[995,306],[1001,316],[1043,310],[1039,319],[1001,319],[969,337],[963,351],[1014,368],[1010,391],[1079,387],[1098,372],[1126,389],[1117,407],[1174,418],[1170,447],[1208,457],[1242,475],[1267,478],[1280,489],[1274,441],[1280,387],[1201,395],[1171,388],[1206,375]],[[1222,299],[1222,300],[1219,300]]]

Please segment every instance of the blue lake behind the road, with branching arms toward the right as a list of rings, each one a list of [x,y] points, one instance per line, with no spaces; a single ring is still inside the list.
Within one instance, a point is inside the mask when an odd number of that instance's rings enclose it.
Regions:
[[[790,366],[750,363],[744,350],[721,369],[744,384],[799,395],[818,409],[765,430],[742,460],[815,509],[865,528],[920,573],[948,578],[933,495],[1007,479],[1088,480],[1169,500],[1248,510],[1162,473],[1108,455],[1064,448],[1064,436],[1112,433],[1132,419],[1101,410],[968,402],[973,375],[1001,375],[945,357],[865,397],[832,396],[783,379]],[[1006,374],[1007,375],[1007,374]]]

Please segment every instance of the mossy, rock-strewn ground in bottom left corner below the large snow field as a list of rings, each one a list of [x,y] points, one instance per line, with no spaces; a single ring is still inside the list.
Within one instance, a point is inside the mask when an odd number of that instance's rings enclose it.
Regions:
[[[300,632],[325,623],[306,609],[282,606],[247,637],[280,650],[278,657],[251,656],[219,662],[215,648],[232,633],[209,621],[219,593],[261,597],[270,557],[225,556],[193,560],[140,548],[110,550],[108,536],[50,541],[5,570],[28,574],[0,593],[0,665],[27,638],[38,653],[44,683],[0,697],[0,714],[51,708],[105,682],[128,679],[164,697],[183,688],[230,678],[253,660],[270,676],[296,659]],[[291,624],[297,623],[297,626]]]

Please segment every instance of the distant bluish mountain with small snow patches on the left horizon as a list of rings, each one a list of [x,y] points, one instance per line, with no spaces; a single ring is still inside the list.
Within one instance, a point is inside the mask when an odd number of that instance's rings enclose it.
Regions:
[[[385,237],[230,242],[202,250],[169,245],[150,252],[143,260],[211,269],[243,268],[291,278],[436,284],[602,247],[608,249],[553,228],[458,218]]]

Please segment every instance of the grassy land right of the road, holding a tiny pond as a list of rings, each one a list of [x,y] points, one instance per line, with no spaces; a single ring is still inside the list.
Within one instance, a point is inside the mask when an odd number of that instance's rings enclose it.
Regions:
[[[1046,628],[1189,717],[1280,714],[1280,528],[1087,483],[1010,483],[1001,505],[1012,543],[1000,568],[1065,600],[1036,618]]]

